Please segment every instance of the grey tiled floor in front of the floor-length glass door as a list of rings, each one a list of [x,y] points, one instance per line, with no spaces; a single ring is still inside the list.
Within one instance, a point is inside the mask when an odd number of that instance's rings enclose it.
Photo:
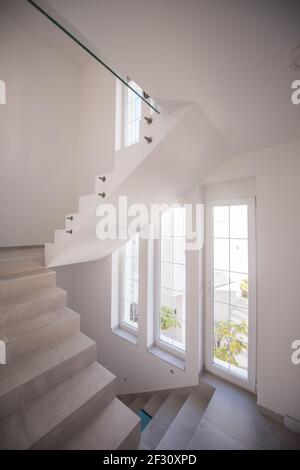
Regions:
[[[190,448],[300,449],[300,434],[262,414],[255,395],[209,373],[200,381],[216,390]]]

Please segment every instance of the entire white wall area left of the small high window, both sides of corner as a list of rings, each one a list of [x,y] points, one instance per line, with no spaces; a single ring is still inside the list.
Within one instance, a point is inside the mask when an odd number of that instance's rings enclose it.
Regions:
[[[49,47],[1,11],[0,246],[53,241],[114,166],[115,78],[58,39]]]

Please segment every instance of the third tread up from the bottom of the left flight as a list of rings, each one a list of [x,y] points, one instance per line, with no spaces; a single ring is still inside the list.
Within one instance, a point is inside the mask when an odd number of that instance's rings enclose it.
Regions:
[[[94,344],[92,339],[79,332],[61,343],[1,366],[0,397]]]

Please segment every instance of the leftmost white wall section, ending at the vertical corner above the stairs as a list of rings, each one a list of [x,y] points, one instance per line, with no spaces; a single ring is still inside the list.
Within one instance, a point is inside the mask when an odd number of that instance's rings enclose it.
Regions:
[[[41,244],[75,205],[79,70],[1,14],[0,77],[0,246]]]

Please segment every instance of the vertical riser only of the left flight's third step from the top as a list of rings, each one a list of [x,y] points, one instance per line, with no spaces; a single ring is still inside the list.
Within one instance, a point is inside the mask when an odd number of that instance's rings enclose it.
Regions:
[[[1,314],[0,311],[0,329],[14,322],[25,320],[26,318],[42,315],[52,310],[64,308],[67,305],[67,293],[61,291],[47,298],[34,299],[24,302],[9,311]]]

